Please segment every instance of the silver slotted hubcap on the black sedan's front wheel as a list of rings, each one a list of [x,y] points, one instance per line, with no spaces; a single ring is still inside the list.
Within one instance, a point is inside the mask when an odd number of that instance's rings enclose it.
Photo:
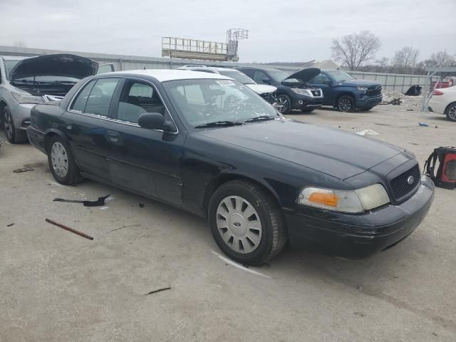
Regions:
[[[217,207],[217,229],[234,252],[254,252],[261,242],[261,221],[257,210],[246,199],[228,196]]]

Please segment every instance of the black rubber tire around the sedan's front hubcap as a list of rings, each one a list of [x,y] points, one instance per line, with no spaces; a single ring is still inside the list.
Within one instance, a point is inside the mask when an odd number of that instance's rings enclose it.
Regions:
[[[222,238],[222,229],[224,228],[219,229],[217,227],[217,218],[219,218],[217,209],[219,209],[219,205],[222,205],[224,199],[227,199],[227,197],[230,196],[237,196],[245,199],[248,204],[252,204],[252,207],[256,210],[254,215],[258,214],[259,216],[255,218],[259,219],[261,224],[261,238],[259,244],[257,244],[257,247],[255,247],[256,249],[254,249],[253,252],[242,254],[234,251],[232,247],[229,247],[229,242],[224,242],[224,239]],[[244,202],[242,202],[240,210],[242,210],[243,205]],[[247,208],[244,210],[247,211]],[[235,215],[236,213],[232,214]],[[227,254],[228,257],[241,264],[264,264],[264,262],[269,259],[276,257],[276,255],[284,249],[286,244],[286,225],[279,205],[268,192],[251,182],[234,180],[221,185],[214,192],[214,195],[212,195],[209,202],[208,216],[212,236],[214,237],[215,242],[217,242],[219,248],[222,252],[224,252],[224,254]],[[232,217],[229,217],[227,220],[229,224],[232,222],[231,219]],[[257,221],[257,219],[254,221]],[[234,224],[236,223],[233,223],[233,227]],[[249,229],[249,232],[252,232],[252,229]],[[231,231],[227,231],[223,234],[233,233]],[[229,239],[232,238],[230,237]],[[232,242],[232,244],[234,244],[234,242]],[[242,243],[239,242],[239,247],[241,245]]]

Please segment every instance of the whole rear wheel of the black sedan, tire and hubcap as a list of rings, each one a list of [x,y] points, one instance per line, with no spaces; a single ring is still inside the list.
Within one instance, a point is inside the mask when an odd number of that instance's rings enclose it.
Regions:
[[[52,175],[57,182],[70,185],[79,182],[82,178],[74,161],[73,153],[68,144],[58,135],[47,144],[48,162]]]

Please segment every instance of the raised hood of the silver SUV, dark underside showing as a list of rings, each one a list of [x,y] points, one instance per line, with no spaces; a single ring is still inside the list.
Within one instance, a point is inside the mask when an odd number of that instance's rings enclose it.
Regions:
[[[9,73],[11,81],[33,76],[85,78],[97,73],[98,63],[70,54],[53,54],[26,58]]]

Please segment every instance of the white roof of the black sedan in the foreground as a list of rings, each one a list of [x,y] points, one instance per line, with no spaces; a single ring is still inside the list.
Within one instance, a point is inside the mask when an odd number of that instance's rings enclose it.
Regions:
[[[190,80],[195,78],[214,78],[217,80],[232,80],[231,77],[219,75],[218,73],[202,73],[200,71],[190,71],[190,70],[176,70],[176,69],[145,69],[145,70],[125,70],[125,71],[116,71],[114,73],[103,73],[103,75],[108,74],[118,74],[118,73],[130,73],[133,75],[142,75],[142,76],[152,76],[157,78],[160,82],[165,81],[175,81],[175,80]]]

